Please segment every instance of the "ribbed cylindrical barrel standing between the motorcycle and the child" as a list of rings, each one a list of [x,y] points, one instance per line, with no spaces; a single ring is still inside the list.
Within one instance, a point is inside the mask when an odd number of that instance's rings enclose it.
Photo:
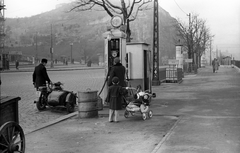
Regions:
[[[98,91],[86,90],[78,92],[78,114],[80,118],[92,118],[98,116]]]

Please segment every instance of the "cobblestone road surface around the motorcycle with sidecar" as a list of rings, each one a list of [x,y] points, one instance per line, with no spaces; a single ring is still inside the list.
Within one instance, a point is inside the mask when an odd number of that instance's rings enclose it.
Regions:
[[[74,70],[74,71],[48,71],[52,82],[61,81],[64,89],[74,92],[91,90],[100,91],[104,81],[104,70]],[[12,72],[1,74],[1,96],[18,96],[19,124],[25,133],[32,131],[43,123],[55,120],[67,112],[51,109],[39,112],[33,103],[35,88],[32,84],[32,72]]]

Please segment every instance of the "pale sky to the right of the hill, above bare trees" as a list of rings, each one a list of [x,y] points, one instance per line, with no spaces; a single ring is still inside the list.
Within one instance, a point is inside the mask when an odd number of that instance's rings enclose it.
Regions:
[[[212,50],[240,60],[240,0],[159,0],[159,5],[185,23],[186,14],[198,14],[214,35]]]

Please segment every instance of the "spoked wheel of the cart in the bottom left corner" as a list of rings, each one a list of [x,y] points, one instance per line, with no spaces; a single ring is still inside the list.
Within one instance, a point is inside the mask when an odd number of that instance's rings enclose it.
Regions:
[[[20,125],[10,121],[0,128],[0,148],[2,152],[25,152],[25,136]]]

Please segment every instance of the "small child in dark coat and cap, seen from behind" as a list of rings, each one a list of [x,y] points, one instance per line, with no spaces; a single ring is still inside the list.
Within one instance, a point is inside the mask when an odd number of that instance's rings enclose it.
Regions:
[[[119,78],[113,77],[106,101],[109,103],[109,122],[118,122],[119,110],[122,109],[123,88],[119,85]]]

